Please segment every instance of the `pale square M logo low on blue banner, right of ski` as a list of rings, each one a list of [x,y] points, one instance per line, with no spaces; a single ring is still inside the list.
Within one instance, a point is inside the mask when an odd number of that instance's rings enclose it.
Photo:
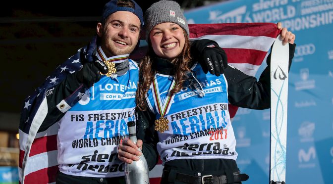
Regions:
[[[298,168],[314,168],[316,159],[316,149],[311,146],[308,150],[300,149],[298,151]]]

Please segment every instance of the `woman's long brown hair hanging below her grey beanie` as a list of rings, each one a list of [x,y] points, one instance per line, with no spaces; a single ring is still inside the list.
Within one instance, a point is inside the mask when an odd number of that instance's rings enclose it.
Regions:
[[[175,87],[171,90],[171,93],[179,92],[182,88],[184,81],[187,79],[186,72],[190,71],[190,41],[188,39],[188,35],[186,31],[183,29],[183,34],[185,36],[185,44],[183,50],[180,54],[175,58],[174,64],[174,71],[175,71]],[[154,67],[154,57],[157,57],[154,53],[153,47],[149,40],[148,43],[148,51],[146,56],[140,63],[140,79],[138,90],[136,91],[136,102],[141,110],[146,110],[147,103],[146,103],[146,94],[152,84],[154,77],[155,77],[155,67]]]

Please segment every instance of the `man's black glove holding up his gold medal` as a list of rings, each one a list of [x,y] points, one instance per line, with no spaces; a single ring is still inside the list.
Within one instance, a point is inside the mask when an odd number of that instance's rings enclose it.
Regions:
[[[107,74],[108,71],[108,67],[103,61],[95,60],[84,63],[82,69],[75,72],[74,75],[79,83],[90,88],[101,79],[101,73]]]

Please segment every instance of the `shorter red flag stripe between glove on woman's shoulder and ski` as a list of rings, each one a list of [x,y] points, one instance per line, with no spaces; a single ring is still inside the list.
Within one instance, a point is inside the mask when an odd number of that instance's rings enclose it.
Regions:
[[[260,66],[265,59],[266,53],[261,50],[247,48],[223,48],[225,50],[228,63],[248,63]]]

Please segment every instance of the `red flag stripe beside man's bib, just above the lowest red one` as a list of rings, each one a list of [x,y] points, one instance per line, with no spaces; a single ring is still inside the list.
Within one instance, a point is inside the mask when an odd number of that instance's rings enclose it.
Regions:
[[[56,135],[36,138],[32,143],[29,157],[57,149]]]

